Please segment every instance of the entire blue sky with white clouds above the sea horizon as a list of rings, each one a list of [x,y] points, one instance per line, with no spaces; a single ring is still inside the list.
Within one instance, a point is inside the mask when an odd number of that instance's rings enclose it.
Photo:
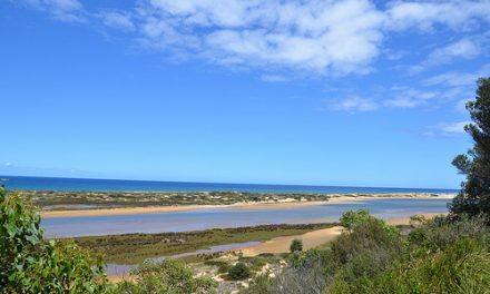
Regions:
[[[0,2],[0,174],[457,188],[490,1]]]

